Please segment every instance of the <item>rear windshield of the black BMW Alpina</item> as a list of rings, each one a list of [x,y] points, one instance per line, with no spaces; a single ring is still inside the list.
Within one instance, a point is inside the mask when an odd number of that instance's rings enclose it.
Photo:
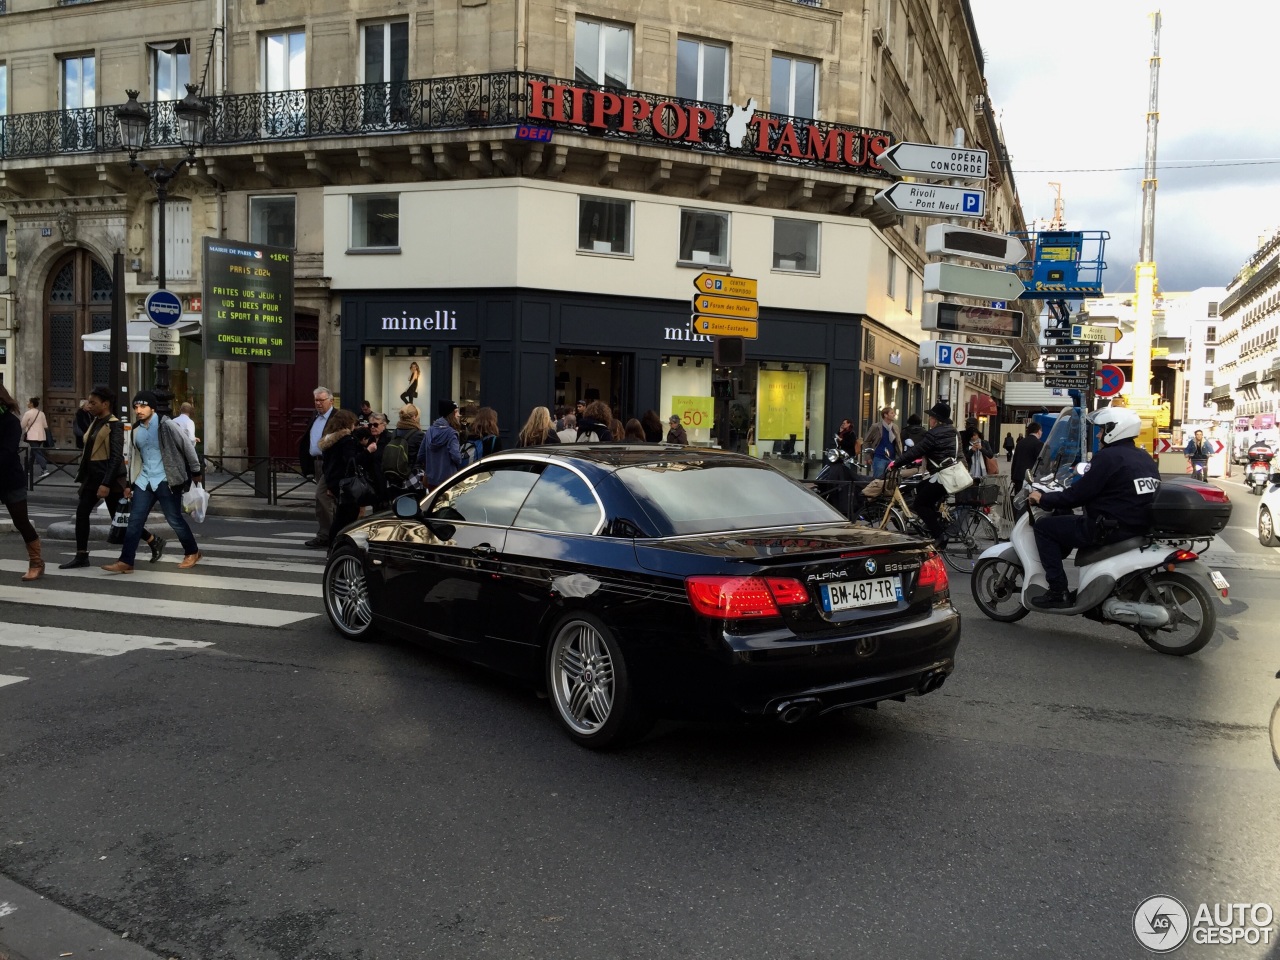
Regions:
[[[622,467],[616,476],[657,525],[666,527],[663,535],[845,518],[808,488],[763,465],[659,462]]]

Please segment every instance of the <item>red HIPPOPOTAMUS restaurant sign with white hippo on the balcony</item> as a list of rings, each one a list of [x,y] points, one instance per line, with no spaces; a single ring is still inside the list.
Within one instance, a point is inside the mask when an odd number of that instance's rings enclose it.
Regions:
[[[877,157],[893,142],[884,131],[837,127],[745,106],[666,100],[653,93],[529,81],[531,123],[586,127],[607,136],[664,142],[726,155],[832,166],[890,177]]]

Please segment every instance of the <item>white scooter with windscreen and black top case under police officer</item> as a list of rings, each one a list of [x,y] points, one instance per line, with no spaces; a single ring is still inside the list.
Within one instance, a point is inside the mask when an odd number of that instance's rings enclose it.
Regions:
[[[983,552],[970,577],[973,598],[988,617],[1012,623],[1032,611],[1032,599],[1048,590],[1036,545],[1036,520],[1048,511],[1028,502],[1032,489],[1061,490],[1088,470],[1073,468],[1071,442],[1080,435],[1080,411],[1064,411],[1044,444],[1036,475],[1014,498],[1018,522],[1009,543]],[[1078,449],[1078,447],[1076,447]],[[1203,550],[1228,524],[1231,502],[1211,484],[1189,479],[1161,483],[1152,507],[1152,525],[1142,536],[1076,552],[1079,585],[1075,602],[1048,616],[1083,616],[1134,630],[1160,653],[1185,657],[1204,646],[1217,626],[1217,611],[1204,580],[1224,598],[1228,581],[1206,570]]]

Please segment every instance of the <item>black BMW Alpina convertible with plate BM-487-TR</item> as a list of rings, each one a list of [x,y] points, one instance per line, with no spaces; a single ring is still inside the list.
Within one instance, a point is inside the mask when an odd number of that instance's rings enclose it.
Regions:
[[[579,742],[649,718],[796,722],[927,694],[960,616],[932,545],[852,526],[735,453],[654,444],[509,451],[347,527],[324,605],[545,687]]]

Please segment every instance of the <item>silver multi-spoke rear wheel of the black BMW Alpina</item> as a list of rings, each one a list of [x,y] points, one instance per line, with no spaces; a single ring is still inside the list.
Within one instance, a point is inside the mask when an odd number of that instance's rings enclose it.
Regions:
[[[648,726],[617,637],[589,613],[570,614],[552,630],[547,690],[564,731],[593,750],[625,744]]]

